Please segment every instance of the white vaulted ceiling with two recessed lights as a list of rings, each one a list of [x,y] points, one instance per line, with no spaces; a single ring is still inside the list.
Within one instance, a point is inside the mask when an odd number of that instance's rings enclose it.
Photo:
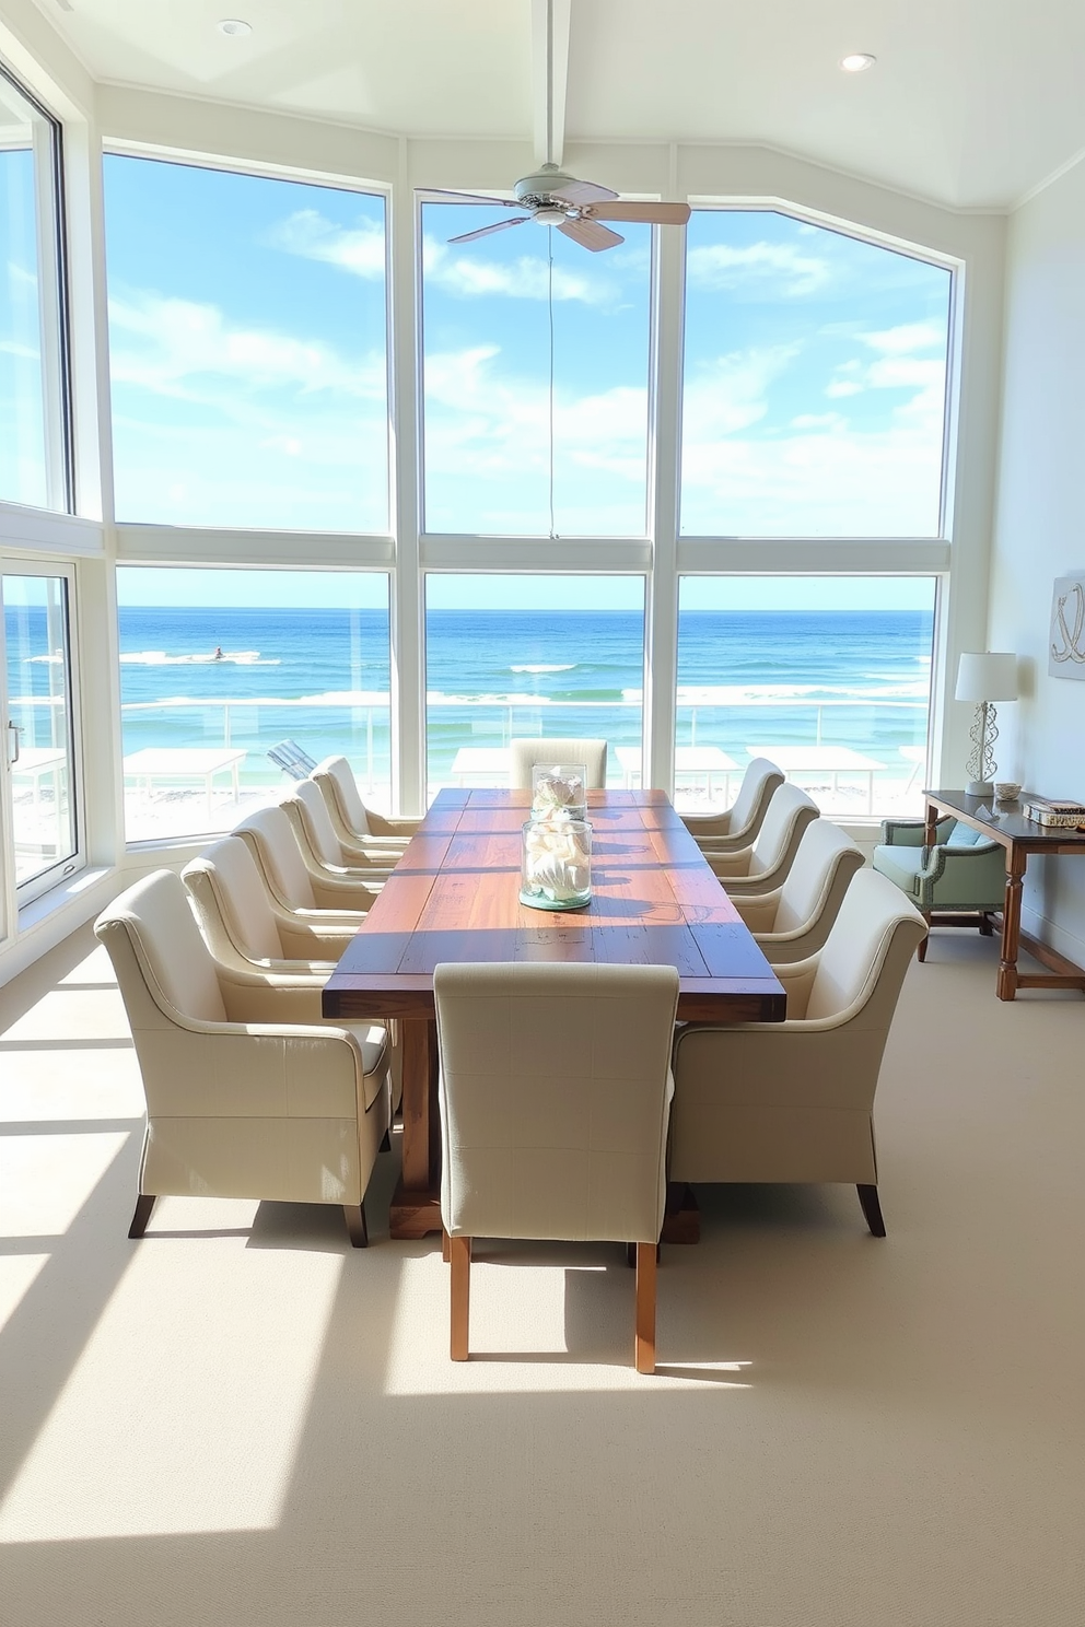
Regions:
[[[102,81],[408,135],[537,127],[532,0],[37,3]],[[877,65],[841,73],[854,50]],[[1082,0],[571,0],[564,135],[755,142],[1007,208],[1085,150],[1083,85]]]

